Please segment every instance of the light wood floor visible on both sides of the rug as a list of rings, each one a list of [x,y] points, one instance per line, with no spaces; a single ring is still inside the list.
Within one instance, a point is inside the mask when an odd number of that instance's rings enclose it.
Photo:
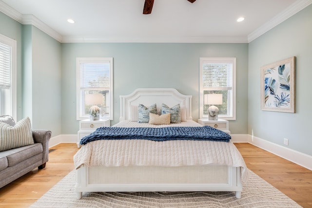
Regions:
[[[304,208],[312,208],[312,171],[251,144],[235,143],[247,167]],[[74,169],[73,143],[50,149],[45,169],[35,169],[0,189],[0,208],[28,208]]]

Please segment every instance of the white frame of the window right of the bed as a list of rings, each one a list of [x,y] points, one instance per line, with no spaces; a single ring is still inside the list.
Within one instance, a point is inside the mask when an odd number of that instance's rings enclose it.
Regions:
[[[235,57],[200,57],[199,58],[199,117],[203,119],[208,119],[208,114],[204,114],[204,91],[213,91],[217,88],[203,87],[203,64],[204,63],[230,63],[233,64],[232,68],[232,100],[228,101],[228,112],[230,114],[219,114],[219,119],[224,120],[235,120],[236,119],[236,58]],[[229,91],[228,91],[229,92]],[[231,99],[230,97],[230,99]]]

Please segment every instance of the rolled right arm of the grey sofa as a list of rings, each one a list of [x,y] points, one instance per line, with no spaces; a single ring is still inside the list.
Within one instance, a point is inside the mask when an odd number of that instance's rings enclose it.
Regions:
[[[41,143],[43,148],[42,164],[49,160],[49,139],[51,138],[51,131],[48,130],[32,130],[35,143]]]

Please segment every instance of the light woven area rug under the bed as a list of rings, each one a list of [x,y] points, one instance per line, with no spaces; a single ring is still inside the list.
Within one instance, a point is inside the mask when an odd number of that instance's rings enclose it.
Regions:
[[[74,186],[75,170],[31,208],[300,208],[251,170],[240,199],[234,192],[85,192],[77,200]]]

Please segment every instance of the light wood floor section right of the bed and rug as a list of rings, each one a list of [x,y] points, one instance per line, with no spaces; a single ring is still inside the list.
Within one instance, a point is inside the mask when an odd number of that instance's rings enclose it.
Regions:
[[[312,171],[248,143],[234,143],[247,167],[304,208],[312,208]]]

